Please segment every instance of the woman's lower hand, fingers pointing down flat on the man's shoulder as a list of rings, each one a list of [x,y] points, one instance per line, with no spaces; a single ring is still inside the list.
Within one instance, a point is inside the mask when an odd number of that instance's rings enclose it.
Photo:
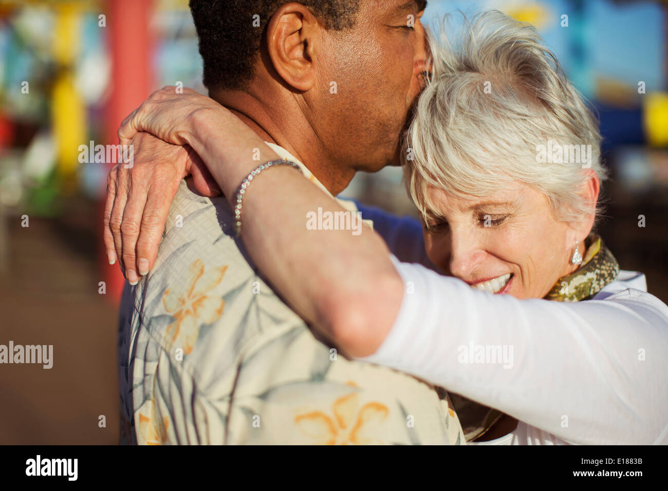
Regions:
[[[172,145],[148,133],[138,133],[131,167],[116,164],[107,178],[104,244],[109,263],[120,259],[128,281],[153,267],[170,204],[181,180],[192,174],[204,196],[218,196],[218,185],[189,146]]]

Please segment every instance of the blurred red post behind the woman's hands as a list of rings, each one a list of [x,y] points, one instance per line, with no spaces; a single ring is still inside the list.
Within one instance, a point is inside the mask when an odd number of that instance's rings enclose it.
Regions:
[[[107,29],[112,57],[111,96],[106,108],[106,140],[108,144],[118,144],[117,132],[121,122],[152,92],[153,39],[149,29],[152,0],[107,0],[105,7],[106,27],[100,29]],[[104,212],[104,203],[102,206]],[[107,294],[118,303],[125,280],[118,263],[109,265],[104,243],[100,263]]]

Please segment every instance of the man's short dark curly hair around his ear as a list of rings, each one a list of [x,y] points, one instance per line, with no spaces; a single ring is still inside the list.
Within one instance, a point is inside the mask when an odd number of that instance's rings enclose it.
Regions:
[[[326,29],[337,31],[355,25],[360,2],[297,1],[321,19]],[[267,23],[285,3],[288,0],[190,0],[190,12],[204,61],[203,81],[208,89],[244,88],[253,77]],[[259,27],[255,27],[258,20],[255,15],[259,15]]]

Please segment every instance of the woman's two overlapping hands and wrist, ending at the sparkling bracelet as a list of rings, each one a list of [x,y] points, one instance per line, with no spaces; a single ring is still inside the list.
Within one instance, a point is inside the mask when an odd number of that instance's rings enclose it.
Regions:
[[[124,120],[118,136],[121,144],[134,146],[134,165],[114,166],[109,174],[104,241],[110,263],[120,259],[131,284],[155,263],[170,205],[184,177],[192,174],[204,196],[217,196],[222,189],[232,200],[248,172],[278,158],[234,114],[188,88],[182,93],[175,87],[154,92]]]

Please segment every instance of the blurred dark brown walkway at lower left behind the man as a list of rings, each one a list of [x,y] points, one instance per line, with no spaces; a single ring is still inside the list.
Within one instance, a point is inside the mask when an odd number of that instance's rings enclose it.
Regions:
[[[0,365],[0,444],[118,443],[117,311],[98,293],[97,212],[71,201],[61,218],[7,222],[0,344],[53,345],[53,367]]]

